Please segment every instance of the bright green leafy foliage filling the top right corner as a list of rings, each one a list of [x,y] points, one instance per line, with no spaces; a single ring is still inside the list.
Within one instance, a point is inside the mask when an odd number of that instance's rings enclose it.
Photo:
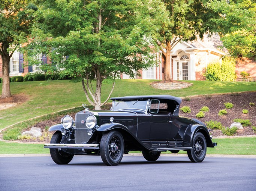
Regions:
[[[209,8],[219,14],[212,22],[223,45],[234,57],[256,57],[256,1],[212,0]]]

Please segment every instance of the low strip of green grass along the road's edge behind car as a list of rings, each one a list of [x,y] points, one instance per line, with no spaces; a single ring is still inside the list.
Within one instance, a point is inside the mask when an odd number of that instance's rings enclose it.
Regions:
[[[253,138],[223,138],[215,139],[218,146],[207,148],[207,154],[244,154],[256,155],[256,137]],[[49,153],[48,148],[43,148],[43,144],[22,144],[6,143],[0,141],[0,154],[39,154]],[[138,153],[138,152],[133,152]],[[167,151],[166,153],[170,153]],[[186,154],[180,151],[180,154]]]

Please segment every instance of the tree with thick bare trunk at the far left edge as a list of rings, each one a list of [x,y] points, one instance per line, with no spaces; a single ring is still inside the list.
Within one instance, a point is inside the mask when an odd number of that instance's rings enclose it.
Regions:
[[[24,43],[33,21],[31,13],[36,10],[27,0],[0,1],[0,56],[2,59],[2,98],[11,97],[9,63],[13,52]]]

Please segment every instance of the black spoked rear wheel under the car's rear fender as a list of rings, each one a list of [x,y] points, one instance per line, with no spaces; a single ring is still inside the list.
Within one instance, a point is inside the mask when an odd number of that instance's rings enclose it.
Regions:
[[[191,162],[200,163],[206,155],[207,145],[205,137],[201,132],[197,132],[193,138],[192,149],[187,151]]]

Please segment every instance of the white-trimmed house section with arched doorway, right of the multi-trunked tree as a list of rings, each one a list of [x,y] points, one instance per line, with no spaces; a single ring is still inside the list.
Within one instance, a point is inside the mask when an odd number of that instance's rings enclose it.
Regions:
[[[225,52],[219,51],[222,46],[219,35],[209,37],[205,35],[202,40],[178,43],[171,51],[171,63],[165,63],[161,52],[157,53],[159,65],[148,70],[140,71],[140,79],[164,79],[165,64],[171,65],[171,77],[174,80],[205,80],[205,68],[210,62],[221,62]],[[123,74],[121,78],[128,79]]]

